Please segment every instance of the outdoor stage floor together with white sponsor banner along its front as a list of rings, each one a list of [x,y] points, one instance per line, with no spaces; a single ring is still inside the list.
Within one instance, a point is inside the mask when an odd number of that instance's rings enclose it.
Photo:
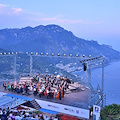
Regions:
[[[38,95],[34,96],[32,93],[30,95],[17,94],[16,92],[4,90],[3,88],[0,89],[0,92],[6,95],[8,94],[9,97],[24,99],[26,101],[34,99],[40,105],[40,111],[47,112],[50,110],[52,113],[65,113],[79,118],[89,119],[88,88],[84,86],[81,86],[81,90],[79,91],[66,93],[61,100],[56,98],[49,99],[45,96],[40,98]],[[23,101],[21,103],[23,103]]]

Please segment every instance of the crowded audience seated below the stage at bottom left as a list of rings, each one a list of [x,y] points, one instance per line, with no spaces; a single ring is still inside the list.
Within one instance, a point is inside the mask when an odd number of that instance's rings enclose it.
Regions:
[[[13,112],[10,109],[0,108],[0,120],[58,120],[56,116],[48,116],[46,114],[28,113],[25,111]]]

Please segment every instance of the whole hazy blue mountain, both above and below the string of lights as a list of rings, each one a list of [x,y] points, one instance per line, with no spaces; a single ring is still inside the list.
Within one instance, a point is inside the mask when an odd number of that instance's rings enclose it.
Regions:
[[[17,77],[23,73],[30,73],[30,57],[23,52],[39,52],[54,54],[103,55],[106,61],[120,59],[120,52],[108,45],[99,45],[97,41],[88,41],[76,37],[58,25],[25,27],[21,29],[0,30],[0,53],[20,52],[16,61]],[[79,59],[55,57],[33,57],[33,73],[62,73],[73,76],[73,72],[81,71]],[[0,57],[0,79],[14,78],[14,57]]]

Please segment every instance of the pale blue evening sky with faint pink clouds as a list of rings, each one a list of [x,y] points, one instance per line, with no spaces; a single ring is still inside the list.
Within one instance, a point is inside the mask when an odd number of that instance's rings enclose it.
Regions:
[[[120,51],[120,0],[0,0],[0,29],[49,24]]]

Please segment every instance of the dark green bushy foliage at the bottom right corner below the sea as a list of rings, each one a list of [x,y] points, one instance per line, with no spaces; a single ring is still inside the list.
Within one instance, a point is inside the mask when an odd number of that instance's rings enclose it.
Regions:
[[[112,104],[101,109],[101,120],[119,120],[120,105]]]

